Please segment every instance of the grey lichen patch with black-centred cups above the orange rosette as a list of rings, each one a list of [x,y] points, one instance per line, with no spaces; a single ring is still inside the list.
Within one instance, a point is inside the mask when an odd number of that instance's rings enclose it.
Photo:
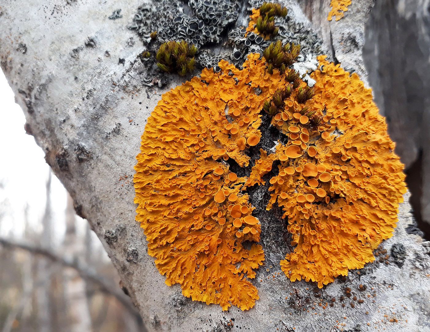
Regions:
[[[185,40],[196,45],[200,51],[196,56],[198,64],[215,72],[219,71],[221,59],[240,67],[246,56],[262,53],[270,42],[276,40],[300,44],[300,59],[303,60],[325,53],[321,39],[308,23],[295,15],[294,10],[285,18],[276,18],[279,35],[270,40],[264,40],[253,32],[247,33],[246,25],[252,9],[262,3],[262,0],[251,0],[246,7],[237,0],[190,0],[188,3],[162,0],[155,6],[140,6],[129,28],[141,37],[152,54],[157,52],[161,43],[169,40]],[[240,13],[246,17],[244,25],[239,24]],[[157,37],[154,37],[155,32]],[[151,68],[147,69],[151,71]]]

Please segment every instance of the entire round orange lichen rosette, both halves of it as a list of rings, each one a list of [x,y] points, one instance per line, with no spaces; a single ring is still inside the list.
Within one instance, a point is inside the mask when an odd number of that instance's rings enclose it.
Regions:
[[[323,56],[319,62],[315,96],[299,103],[296,89],[272,119],[287,143],[261,150],[249,177],[226,161],[249,165],[263,103],[289,84],[286,74],[269,74],[259,54],[242,70],[225,61],[220,73],[204,69],[165,93],[148,118],[135,166],[136,220],[166,284],[179,283],[185,296],[223,310],[254,306],[250,279],[264,248],[246,188],[264,184],[276,160],[267,209],[277,204],[288,220],[295,249],[280,264],[291,281],[322,287],[373,261],[372,251],[392,236],[406,188],[384,118],[358,75]],[[320,123],[311,124],[304,108]]]

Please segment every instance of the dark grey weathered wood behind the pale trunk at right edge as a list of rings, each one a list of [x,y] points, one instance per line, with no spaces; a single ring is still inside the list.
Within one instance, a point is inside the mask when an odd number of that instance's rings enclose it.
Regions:
[[[412,206],[430,236],[430,3],[381,0],[366,25],[363,57],[396,153],[408,170]],[[427,224],[425,223],[427,222]]]

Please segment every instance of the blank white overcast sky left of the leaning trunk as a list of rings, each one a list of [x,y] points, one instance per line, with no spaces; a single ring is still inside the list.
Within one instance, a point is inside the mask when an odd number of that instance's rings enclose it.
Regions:
[[[24,208],[28,203],[32,227],[39,232],[45,208],[45,183],[50,168],[42,149],[24,130],[25,116],[15,104],[14,94],[0,70],[0,210],[6,216],[0,223],[2,236],[21,236]],[[52,207],[55,236],[64,232],[67,194],[60,181],[52,177]],[[0,211],[1,212],[1,211]],[[12,234],[11,234],[12,233]]]

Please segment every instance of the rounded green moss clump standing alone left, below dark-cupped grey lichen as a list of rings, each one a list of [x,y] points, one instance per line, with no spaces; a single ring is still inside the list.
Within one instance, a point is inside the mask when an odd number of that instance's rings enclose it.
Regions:
[[[194,70],[197,47],[187,44],[184,40],[162,43],[157,51],[157,66],[166,73],[178,72],[184,76]]]

